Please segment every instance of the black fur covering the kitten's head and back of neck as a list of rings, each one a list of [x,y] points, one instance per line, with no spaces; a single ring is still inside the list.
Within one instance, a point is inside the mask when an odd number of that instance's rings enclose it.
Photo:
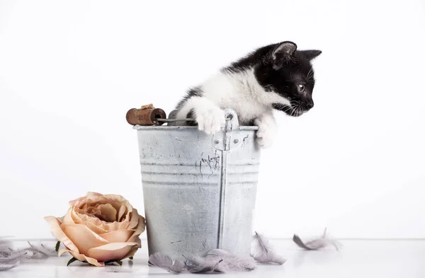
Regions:
[[[320,50],[297,50],[293,42],[280,42],[261,47],[222,69],[237,73],[254,68],[256,80],[265,91],[274,91],[290,100],[292,107],[273,104],[273,108],[291,116],[299,116],[313,106],[314,71],[311,60]],[[303,86],[301,91],[300,86]]]

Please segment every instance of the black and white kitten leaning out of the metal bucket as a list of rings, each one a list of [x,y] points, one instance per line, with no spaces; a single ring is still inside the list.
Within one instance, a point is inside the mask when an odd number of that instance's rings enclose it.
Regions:
[[[240,125],[257,125],[256,142],[270,146],[276,133],[273,109],[298,117],[313,107],[311,60],[320,50],[297,50],[293,42],[261,47],[221,69],[188,91],[175,118],[195,118],[198,128],[213,134],[225,124],[222,108],[237,112]]]

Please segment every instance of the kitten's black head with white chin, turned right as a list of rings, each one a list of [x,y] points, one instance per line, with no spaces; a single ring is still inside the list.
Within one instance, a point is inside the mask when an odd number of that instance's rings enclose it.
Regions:
[[[321,53],[320,50],[297,50],[293,42],[269,46],[255,71],[266,91],[266,102],[294,117],[310,110],[314,105],[311,61]]]

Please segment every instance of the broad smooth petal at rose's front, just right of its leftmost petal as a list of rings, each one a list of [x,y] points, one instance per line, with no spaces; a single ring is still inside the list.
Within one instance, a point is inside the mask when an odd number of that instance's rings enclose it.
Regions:
[[[62,231],[64,231],[68,238],[77,245],[79,253],[81,254],[87,254],[90,248],[109,243],[109,241],[98,236],[82,224],[62,224],[60,228],[62,228]],[[69,248],[69,246],[67,247]]]

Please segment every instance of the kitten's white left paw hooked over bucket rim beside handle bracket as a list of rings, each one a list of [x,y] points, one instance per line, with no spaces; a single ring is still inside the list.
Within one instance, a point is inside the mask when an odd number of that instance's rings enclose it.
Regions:
[[[206,134],[214,134],[220,131],[225,125],[225,112],[220,108],[210,108],[209,110],[196,110],[196,122],[198,129]]]

